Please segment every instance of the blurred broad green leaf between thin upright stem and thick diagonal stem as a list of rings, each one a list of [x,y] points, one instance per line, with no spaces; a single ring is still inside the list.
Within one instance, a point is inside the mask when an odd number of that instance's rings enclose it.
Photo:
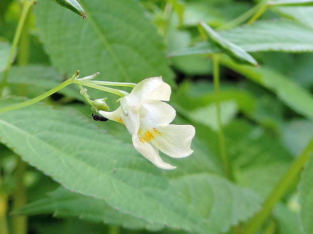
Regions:
[[[276,137],[245,121],[231,122],[225,126],[224,134],[236,181],[265,198],[294,157]],[[208,143],[211,148],[216,144],[211,140]]]

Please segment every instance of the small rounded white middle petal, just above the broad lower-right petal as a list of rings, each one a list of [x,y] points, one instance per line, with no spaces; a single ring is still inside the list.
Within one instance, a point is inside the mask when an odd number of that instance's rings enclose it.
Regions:
[[[145,116],[146,119],[140,119],[140,121],[148,121],[148,129],[151,127],[157,128],[159,126],[166,126],[170,124],[176,116],[175,109],[165,102],[148,100],[142,104],[142,106],[148,110],[148,113]]]

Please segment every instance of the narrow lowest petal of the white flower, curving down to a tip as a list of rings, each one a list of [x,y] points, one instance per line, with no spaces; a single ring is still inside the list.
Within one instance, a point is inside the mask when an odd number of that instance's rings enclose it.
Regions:
[[[151,163],[153,163],[156,167],[170,170],[170,169],[175,169],[176,167],[165,163],[160,155],[158,150],[152,147],[146,140],[144,139],[139,139],[137,134],[133,134],[132,136],[133,144],[134,147],[138,152],[140,152],[144,158],[149,160]]]

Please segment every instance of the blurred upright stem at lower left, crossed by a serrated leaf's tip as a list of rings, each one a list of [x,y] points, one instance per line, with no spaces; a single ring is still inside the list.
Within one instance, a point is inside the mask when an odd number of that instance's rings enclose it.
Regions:
[[[16,166],[16,189],[14,193],[13,208],[17,209],[26,204],[26,190],[24,186],[24,175],[26,164],[18,158]],[[12,217],[12,227],[14,234],[27,233],[27,216],[18,215]]]

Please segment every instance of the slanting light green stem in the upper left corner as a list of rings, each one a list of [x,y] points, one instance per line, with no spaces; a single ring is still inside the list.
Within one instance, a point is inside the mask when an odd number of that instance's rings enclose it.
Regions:
[[[30,0],[30,1],[24,2],[23,9],[22,9],[22,14],[21,14],[19,23],[18,23],[16,31],[15,31],[15,35],[14,35],[11,51],[10,51],[10,54],[9,54],[9,59],[8,59],[8,62],[7,62],[7,66],[6,66],[6,69],[4,71],[4,74],[3,74],[3,77],[2,77],[2,81],[0,83],[0,97],[2,95],[3,89],[7,86],[8,73],[9,73],[9,70],[11,68],[11,63],[12,63],[12,60],[13,60],[13,56],[14,56],[17,44],[19,42],[19,39],[20,39],[20,36],[21,36],[21,32],[23,30],[23,26],[24,26],[24,23],[25,23],[28,11],[29,11],[30,7],[34,4],[34,2],[35,2],[35,0]]]

